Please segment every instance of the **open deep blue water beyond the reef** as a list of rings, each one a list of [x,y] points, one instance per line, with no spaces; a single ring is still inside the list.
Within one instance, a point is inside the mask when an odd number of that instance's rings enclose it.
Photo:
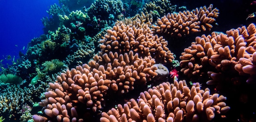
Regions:
[[[0,0],[0,60],[26,53],[31,39],[43,34],[41,19],[54,3],[58,0]]]

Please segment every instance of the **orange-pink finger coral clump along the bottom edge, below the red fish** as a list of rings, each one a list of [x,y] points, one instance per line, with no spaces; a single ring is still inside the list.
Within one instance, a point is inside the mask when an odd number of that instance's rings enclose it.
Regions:
[[[226,97],[210,94],[194,83],[189,89],[186,81],[161,83],[140,93],[139,99],[130,99],[101,113],[101,122],[209,122],[216,116],[225,117],[230,109]]]

